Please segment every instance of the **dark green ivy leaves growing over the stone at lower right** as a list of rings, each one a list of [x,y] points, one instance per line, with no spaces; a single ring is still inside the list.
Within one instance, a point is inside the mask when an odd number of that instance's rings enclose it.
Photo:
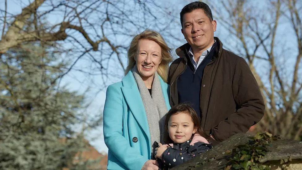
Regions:
[[[229,159],[225,169],[269,170],[270,167],[262,165],[259,159],[268,151],[271,142],[278,138],[278,136],[272,136],[267,132],[257,133],[254,137],[251,137],[248,143],[239,145],[232,151],[227,150],[226,153],[231,155],[231,159]]]

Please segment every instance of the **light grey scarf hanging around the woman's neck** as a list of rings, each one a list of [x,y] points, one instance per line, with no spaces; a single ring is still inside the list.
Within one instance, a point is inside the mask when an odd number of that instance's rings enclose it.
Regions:
[[[165,136],[168,134],[165,129],[166,113],[168,112],[166,102],[162,94],[162,86],[158,78],[157,72],[154,74],[152,83],[151,96],[143,79],[137,72],[136,65],[132,69],[134,78],[136,80],[140,96],[143,100],[147,120],[151,135],[151,145],[154,141],[163,142]]]

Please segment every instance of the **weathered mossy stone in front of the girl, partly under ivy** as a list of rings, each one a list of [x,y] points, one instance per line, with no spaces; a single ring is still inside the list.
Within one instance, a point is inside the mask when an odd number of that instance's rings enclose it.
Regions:
[[[246,133],[238,133],[208,152],[172,169],[225,169],[230,159],[233,158],[230,152],[238,146],[248,144],[252,138]],[[240,150],[240,147],[238,149]],[[278,137],[271,140],[266,147],[264,156],[259,157],[257,161],[261,165],[267,165],[266,168],[269,169],[302,170],[302,142]]]

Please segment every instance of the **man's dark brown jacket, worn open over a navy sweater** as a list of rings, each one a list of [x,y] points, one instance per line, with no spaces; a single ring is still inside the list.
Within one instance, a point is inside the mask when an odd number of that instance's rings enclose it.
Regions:
[[[246,61],[222,48],[218,41],[211,62],[206,65],[201,87],[201,127],[221,142],[235,133],[245,133],[261,120],[264,103],[261,92]],[[188,49],[176,49],[179,56],[169,69],[170,105],[178,104],[177,79],[187,67]],[[188,87],[189,88],[189,87]],[[217,141],[212,141],[217,144]]]

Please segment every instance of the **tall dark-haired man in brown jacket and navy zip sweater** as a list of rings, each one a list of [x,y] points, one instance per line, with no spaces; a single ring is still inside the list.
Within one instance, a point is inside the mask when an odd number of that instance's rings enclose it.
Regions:
[[[265,109],[248,64],[214,37],[217,22],[207,4],[186,5],[180,22],[188,43],[176,49],[179,58],[170,65],[170,105],[191,103],[213,145],[247,132]]]

